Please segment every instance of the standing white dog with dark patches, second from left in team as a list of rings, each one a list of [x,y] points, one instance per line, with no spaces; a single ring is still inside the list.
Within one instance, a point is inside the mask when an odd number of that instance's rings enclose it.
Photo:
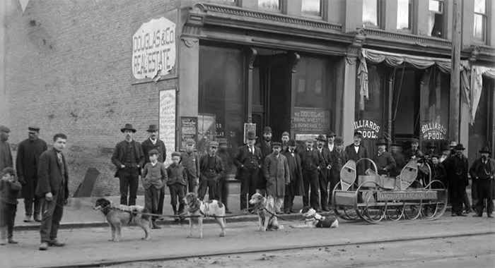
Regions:
[[[199,238],[203,238],[203,219],[204,217],[214,217],[216,222],[220,225],[222,232],[220,236],[225,236],[225,205],[218,200],[208,200],[203,202],[199,200],[195,193],[188,193],[184,197],[184,202],[189,207],[187,214],[189,217],[189,235],[192,237],[192,227],[197,224],[199,227]]]

